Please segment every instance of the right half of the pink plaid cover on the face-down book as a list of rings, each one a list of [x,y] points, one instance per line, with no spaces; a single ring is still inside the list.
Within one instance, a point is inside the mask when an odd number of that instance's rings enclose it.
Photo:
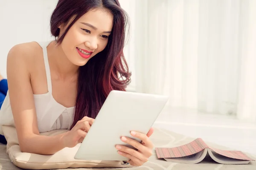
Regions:
[[[246,161],[255,161],[255,160],[249,158],[247,155],[245,155],[241,151],[236,151],[236,150],[219,150],[219,149],[216,149],[214,147],[209,147],[209,148],[211,150],[213,150],[214,152],[216,152],[216,153],[218,153],[218,154],[220,154],[222,156],[229,157],[229,158],[246,160]]]

